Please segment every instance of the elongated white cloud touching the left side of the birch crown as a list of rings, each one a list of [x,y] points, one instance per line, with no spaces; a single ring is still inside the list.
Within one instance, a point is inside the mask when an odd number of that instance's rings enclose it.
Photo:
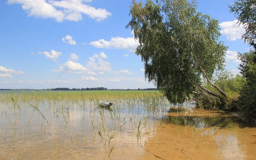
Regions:
[[[134,52],[139,45],[139,42],[133,38],[121,38],[113,37],[110,41],[100,39],[97,41],[90,42],[90,45],[96,48],[114,48],[114,49],[128,49],[130,52]]]

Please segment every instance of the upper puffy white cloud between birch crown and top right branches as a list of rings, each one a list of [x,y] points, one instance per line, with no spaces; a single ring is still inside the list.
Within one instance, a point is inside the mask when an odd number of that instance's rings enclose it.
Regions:
[[[221,34],[227,36],[228,41],[235,41],[241,39],[242,35],[245,33],[243,25],[238,26],[238,20],[227,21],[220,23]]]

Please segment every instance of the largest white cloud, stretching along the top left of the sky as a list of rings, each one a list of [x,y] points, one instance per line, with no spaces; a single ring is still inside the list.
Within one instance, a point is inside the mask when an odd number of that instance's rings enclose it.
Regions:
[[[57,22],[63,20],[80,21],[82,20],[82,13],[96,21],[102,21],[112,15],[106,9],[96,9],[84,4],[84,2],[91,2],[91,0],[8,0],[7,4],[21,4],[28,16],[54,18]]]

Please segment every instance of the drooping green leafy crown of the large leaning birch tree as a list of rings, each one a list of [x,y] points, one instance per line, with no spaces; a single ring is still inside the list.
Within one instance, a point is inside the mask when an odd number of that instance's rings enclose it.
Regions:
[[[219,41],[218,21],[197,12],[195,1],[162,0],[154,4],[132,1],[131,21],[140,45],[145,77],[168,100],[183,103],[203,79],[223,68],[226,47]]]

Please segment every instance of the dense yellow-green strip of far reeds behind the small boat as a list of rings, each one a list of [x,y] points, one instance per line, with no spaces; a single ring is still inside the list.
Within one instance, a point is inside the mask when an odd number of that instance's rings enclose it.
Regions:
[[[1,101],[10,101],[9,97],[21,101],[30,100],[95,100],[95,99],[134,99],[145,97],[163,97],[160,91],[4,91],[0,92]]]

